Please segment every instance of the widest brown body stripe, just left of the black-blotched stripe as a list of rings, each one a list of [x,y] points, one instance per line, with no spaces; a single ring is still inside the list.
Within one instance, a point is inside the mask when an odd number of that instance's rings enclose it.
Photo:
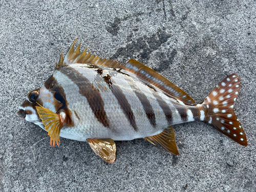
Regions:
[[[104,110],[103,99],[101,98],[100,92],[93,86],[93,84],[77,70],[71,67],[62,67],[60,72],[66,75],[78,86],[79,93],[87,98],[90,108],[98,121],[105,127],[110,127],[108,117]]]

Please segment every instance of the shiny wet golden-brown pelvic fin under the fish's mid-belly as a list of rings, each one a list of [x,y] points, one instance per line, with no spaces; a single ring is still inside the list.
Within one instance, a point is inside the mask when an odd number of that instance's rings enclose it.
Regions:
[[[108,163],[116,160],[116,143],[113,139],[87,139],[92,150]]]

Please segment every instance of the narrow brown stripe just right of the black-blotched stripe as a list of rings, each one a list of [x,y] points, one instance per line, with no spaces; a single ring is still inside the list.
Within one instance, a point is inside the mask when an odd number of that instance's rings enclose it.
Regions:
[[[131,79],[129,79],[128,77],[124,76],[125,80],[129,83],[129,86],[133,89],[134,93],[136,94],[136,96],[138,97],[138,99],[140,100],[143,109],[146,113],[147,119],[150,121],[150,123],[152,124],[153,127],[156,127],[157,123],[156,123],[156,115],[155,112],[152,108],[152,105],[150,103],[150,101],[147,99],[147,97],[145,96],[144,93],[142,93],[136,86],[136,84],[134,84]]]

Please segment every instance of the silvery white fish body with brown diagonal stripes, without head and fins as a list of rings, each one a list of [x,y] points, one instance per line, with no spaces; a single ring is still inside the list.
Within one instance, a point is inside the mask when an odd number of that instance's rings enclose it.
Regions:
[[[63,66],[44,87],[63,90],[73,124],[61,129],[60,136],[79,141],[153,136],[200,114],[196,106],[180,104],[129,71],[115,68],[79,63]],[[195,109],[194,116],[187,113],[190,108]]]

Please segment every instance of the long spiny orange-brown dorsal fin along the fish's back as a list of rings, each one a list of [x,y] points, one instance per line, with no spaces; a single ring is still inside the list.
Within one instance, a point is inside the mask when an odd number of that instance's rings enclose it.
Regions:
[[[179,102],[189,105],[195,104],[195,101],[190,96],[188,96],[184,91],[182,91],[179,87],[175,86],[174,83],[170,82],[168,79],[164,78],[162,75],[158,74],[153,69],[146,67],[141,62],[131,59],[125,65],[121,65],[117,61],[111,59],[107,60],[106,58],[101,59],[98,56],[95,56],[94,54],[91,55],[91,52],[86,52],[87,49],[80,53],[79,48],[81,44],[79,44],[76,50],[74,50],[76,40],[77,38],[70,46],[65,58],[62,57],[62,54],[60,55],[59,63],[56,63],[56,69],[61,66],[69,65],[72,63],[86,63],[97,66],[124,69],[137,75],[142,80],[150,82],[167,95],[177,99],[177,101]]]

